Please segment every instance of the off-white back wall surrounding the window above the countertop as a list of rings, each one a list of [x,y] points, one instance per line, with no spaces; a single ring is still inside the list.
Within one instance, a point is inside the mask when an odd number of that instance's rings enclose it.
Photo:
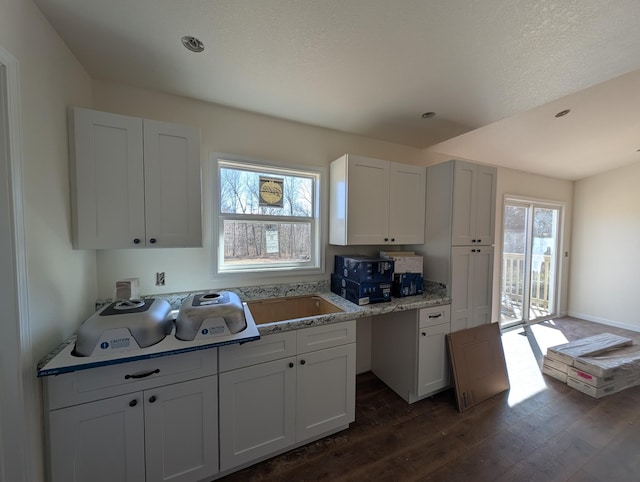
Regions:
[[[251,278],[211,279],[212,213],[209,207],[211,205],[209,159],[212,152],[236,154],[293,166],[320,166],[327,171],[329,163],[345,152],[411,164],[424,164],[424,154],[419,149],[159,92],[95,81],[93,96],[94,108],[98,110],[200,127],[203,167],[204,246],[186,249],[98,251],[98,296],[100,298],[113,296],[115,282],[118,279],[130,277],[140,278],[142,294],[220,289],[265,283],[264,280],[257,281]],[[274,277],[267,283],[328,279],[329,273],[333,270],[334,254],[346,252],[368,253],[375,252],[375,248],[328,247],[324,274],[306,278]],[[165,286],[154,285],[156,271],[166,273]]]

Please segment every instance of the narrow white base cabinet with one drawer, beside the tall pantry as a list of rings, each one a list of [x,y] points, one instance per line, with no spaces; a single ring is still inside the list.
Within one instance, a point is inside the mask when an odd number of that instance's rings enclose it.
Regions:
[[[371,371],[409,403],[449,386],[450,306],[373,317]]]

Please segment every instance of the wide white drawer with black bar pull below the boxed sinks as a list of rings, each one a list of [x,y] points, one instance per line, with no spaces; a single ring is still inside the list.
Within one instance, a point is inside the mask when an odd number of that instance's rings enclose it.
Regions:
[[[218,371],[218,350],[178,353],[46,377],[47,408],[61,407],[182,382]]]

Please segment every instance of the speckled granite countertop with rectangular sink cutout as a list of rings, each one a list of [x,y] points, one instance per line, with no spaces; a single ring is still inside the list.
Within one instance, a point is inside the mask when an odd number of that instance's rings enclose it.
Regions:
[[[385,313],[392,313],[394,311],[406,311],[415,310],[420,308],[428,308],[430,306],[439,306],[450,304],[451,300],[447,297],[446,287],[440,283],[433,283],[425,281],[425,293],[416,296],[407,296],[405,298],[392,298],[391,301],[384,303],[375,303],[371,305],[358,306],[355,303],[351,303],[346,299],[332,293],[329,289],[329,281],[320,281],[314,283],[295,283],[285,285],[267,285],[267,286],[255,286],[246,288],[229,288],[224,291],[232,291],[240,296],[242,301],[252,301],[261,299],[282,298],[290,296],[300,296],[305,294],[320,295],[327,301],[330,301],[334,305],[338,306],[343,311],[341,313],[331,313],[327,315],[309,316],[306,318],[297,318],[287,321],[279,321],[274,323],[264,323],[256,325],[260,336],[265,336],[271,333],[279,333],[283,331],[298,330],[300,328],[307,328],[310,326],[326,325],[330,323],[339,323],[341,321],[354,320],[357,318],[363,318],[366,316],[375,316]],[[146,296],[145,298],[163,298],[169,302],[173,310],[178,310],[182,302],[194,294],[207,293],[222,290],[207,290],[197,292],[184,292],[184,293],[168,293]],[[111,303],[112,300],[98,300],[96,301],[96,310]],[[253,338],[255,339],[255,338]],[[56,348],[51,350],[46,356],[44,356],[38,363],[39,376],[46,376],[49,374],[61,373],[63,371],[73,371],[71,369],[54,369],[46,370],[46,365],[54,358],[61,356],[66,350],[69,351],[69,346],[75,342],[75,335],[69,337],[63,343],[59,344]],[[167,344],[169,346],[170,343]],[[201,345],[201,343],[200,343]],[[211,345],[216,346],[216,345]],[[170,348],[169,351],[163,351],[162,349],[149,350],[149,354],[144,352],[136,353],[135,356],[128,354],[123,356],[122,360],[100,360],[91,361],[85,364],[85,368],[101,366],[102,364],[113,364],[117,362],[129,361],[128,358],[145,358],[147,356],[166,356],[173,352],[180,353],[183,351],[189,351],[194,349],[205,349],[207,346],[182,347],[180,349]],[[125,360],[127,359],[127,360]],[[89,360],[87,360],[89,362]],[[82,368],[76,368],[82,369]]]

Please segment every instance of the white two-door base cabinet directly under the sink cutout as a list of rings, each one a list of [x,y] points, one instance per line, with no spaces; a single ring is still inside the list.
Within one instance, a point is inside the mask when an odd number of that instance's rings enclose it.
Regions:
[[[355,420],[355,320],[220,348],[220,472]]]

